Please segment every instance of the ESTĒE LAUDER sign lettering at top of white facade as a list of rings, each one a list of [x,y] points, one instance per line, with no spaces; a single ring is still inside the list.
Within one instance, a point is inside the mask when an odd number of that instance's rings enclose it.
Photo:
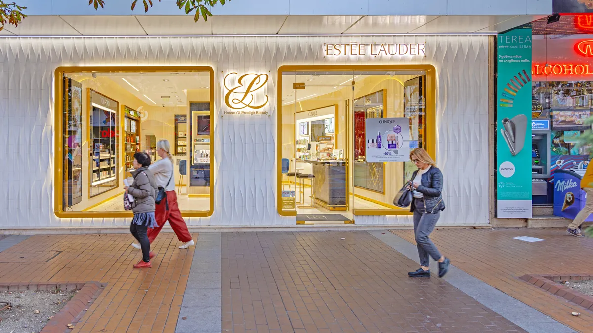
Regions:
[[[323,55],[337,56],[426,56],[426,44],[323,44]]]

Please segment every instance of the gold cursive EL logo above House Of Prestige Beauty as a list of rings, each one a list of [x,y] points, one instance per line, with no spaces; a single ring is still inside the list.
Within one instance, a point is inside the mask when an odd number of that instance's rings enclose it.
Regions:
[[[237,84],[233,88],[229,88],[229,76],[239,75],[237,72],[228,73],[224,78],[224,87],[227,89],[224,101],[229,108],[239,110],[241,108],[263,108],[269,101],[266,95],[266,100],[259,105],[254,105],[256,99],[256,91],[262,89],[266,84],[269,76],[267,74],[248,73],[239,76]]]

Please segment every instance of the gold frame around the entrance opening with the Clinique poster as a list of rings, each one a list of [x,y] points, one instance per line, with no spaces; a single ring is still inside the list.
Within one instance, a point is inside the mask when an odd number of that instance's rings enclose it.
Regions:
[[[417,65],[283,65],[278,68],[277,100],[282,100],[282,73],[289,71],[426,71],[426,152],[436,159],[436,68],[429,64]],[[385,94],[386,95],[386,94]],[[384,98],[385,98],[384,95]],[[352,116],[352,115],[351,115]],[[337,123],[337,121],[336,121]],[[282,104],[276,113],[276,209],[280,216],[297,216],[297,210],[282,210]],[[346,133],[346,147],[350,149],[352,133]],[[352,156],[350,156],[352,159]],[[348,161],[348,167],[350,163]],[[349,186],[349,185],[348,185]],[[409,209],[354,209],[355,215],[412,215]]]

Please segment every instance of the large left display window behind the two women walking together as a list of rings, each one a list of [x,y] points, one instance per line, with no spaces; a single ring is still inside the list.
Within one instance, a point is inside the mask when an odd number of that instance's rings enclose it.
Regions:
[[[205,66],[56,69],[56,215],[131,217],[123,183],[133,155],[158,161],[161,139],[170,142],[181,212],[211,215],[213,79]]]

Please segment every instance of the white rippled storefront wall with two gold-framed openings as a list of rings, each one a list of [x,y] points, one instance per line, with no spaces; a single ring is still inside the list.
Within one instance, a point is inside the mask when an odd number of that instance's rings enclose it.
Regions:
[[[209,100],[209,91],[205,91],[205,100],[213,104],[211,110],[208,110],[212,129],[209,133],[212,142],[208,149],[212,148],[213,153],[208,154],[211,172],[208,189],[202,196],[208,196],[210,202],[205,209],[190,207],[189,210],[193,213],[186,214],[187,223],[190,226],[297,225],[295,214],[283,214],[279,206],[282,201],[282,190],[279,189],[283,184],[282,178],[279,177],[282,139],[278,137],[278,126],[282,122],[279,120],[278,110],[279,104],[283,103],[278,101],[278,97],[282,97],[277,93],[280,67],[297,65],[302,66],[301,69],[323,68],[325,71],[347,68],[348,71],[389,72],[401,71],[406,69],[405,66],[410,66],[407,69],[428,69],[430,73],[427,78],[432,79],[433,84],[427,87],[427,92],[428,95],[433,94],[433,98],[428,100],[426,110],[429,123],[426,126],[432,132],[426,136],[428,140],[432,140],[434,148],[431,154],[444,171],[447,182],[444,191],[447,209],[442,214],[440,223],[487,224],[487,165],[490,151],[488,73],[492,40],[493,37],[486,34],[5,39],[0,46],[5,78],[2,80],[4,87],[0,91],[6,101],[1,113],[4,119],[2,133],[9,143],[9,161],[14,163],[3,166],[7,175],[7,191],[6,200],[3,200],[5,214],[0,217],[0,227],[127,225],[127,213],[90,213],[84,209],[68,209],[64,206],[63,192],[56,190],[58,180],[65,179],[60,178],[60,175],[56,178],[56,174],[65,171],[60,169],[60,163],[57,162],[64,155],[63,148],[60,151],[60,146],[63,146],[63,141],[60,141],[63,129],[59,128],[63,116],[60,110],[56,110],[60,107],[63,109],[63,105],[56,102],[56,99],[63,101],[63,96],[59,93],[63,87],[56,82],[63,79],[60,75],[64,72],[153,70],[167,73],[204,71],[211,75],[209,77],[212,86],[208,84],[209,87],[199,87],[208,88],[213,101],[212,103]],[[425,55],[409,52],[403,55],[390,55],[387,47],[379,54],[375,54],[378,50],[372,51],[373,55],[367,52],[365,55],[357,53],[341,57],[328,56],[327,44],[392,47],[400,44],[423,45]],[[393,49],[391,51],[391,54],[396,53]],[[403,65],[405,66],[397,67]],[[98,68],[100,66],[104,68]],[[257,92],[253,92],[253,104],[245,108],[229,105],[229,100],[232,104],[233,98],[238,96],[233,94],[240,92],[240,89],[232,91],[238,77],[250,73],[265,74],[268,78]],[[233,79],[234,76],[237,78]],[[133,82],[130,83],[133,85]],[[101,91],[97,92],[101,94]],[[390,94],[388,92],[387,95]],[[126,117],[123,117],[126,114],[126,109],[123,108],[125,101],[122,101],[122,98],[103,95],[109,97],[111,102],[119,103],[118,107],[124,110],[118,118],[122,121],[118,125],[119,130],[127,127],[127,123],[123,124],[126,121]],[[354,99],[358,97],[355,95]],[[241,98],[243,97],[239,97],[239,100]],[[189,105],[190,98],[187,103]],[[394,101],[387,100],[387,105],[389,103]],[[126,106],[127,114],[134,110],[134,107],[138,107]],[[183,113],[184,111],[181,112]],[[186,115],[191,116],[189,111]],[[142,112],[139,112],[138,116],[140,119],[143,116]],[[353,114],[350,116],[353,119]],[[163,122],[167,123],[167,126],[176,125],[173,119]],[[340,124],[337,124],[336,130],[337,133],[342,131],[343,137],[340,135],[338,140],[346,145],[346,128],[340,129]],[[178,133],[179,130],[176,129],[174,132]],[[118,143],[125,146],[126,139],[123,133],[125,131],[117,133],[116,137]],[[87,140],[90,139],[89,136]],[[171,143],[173,144],[176,139],[178,138],[172,137]],[[352,136],[349,136],[348,140],[351,140],[349,145],[352,148]],[[84,138],[81,139],[83,148],[84,141]],[[125,152],[122,148],[114,149],[119,149],[119,156],[114,160],[121,162],[113,168],[117,179],[113,180],[112,184],[119,188],[126,177],[123,169],[126,162]],[[193,158],[188,155],[186,157]],[[483,167],[480,167],[482,165]],[[388,178],[389,175],[385,177]],[[401,175],[397,177],[400,178]],[[93,181],[95,179],[98,180],[93,178]],[[116,192],[111,191],[104,196],[111,198],[117,196]],[[90,190],[82,190],[81,195],[90,198],[94,194],[91,194]],[[86,208],[90,206],[92,205],[89,204]],[[355,225],[412,223],[410,215],[405,212],[393,213],[388,207],[383,210],[372,214],[355,213],[352,220]]]

